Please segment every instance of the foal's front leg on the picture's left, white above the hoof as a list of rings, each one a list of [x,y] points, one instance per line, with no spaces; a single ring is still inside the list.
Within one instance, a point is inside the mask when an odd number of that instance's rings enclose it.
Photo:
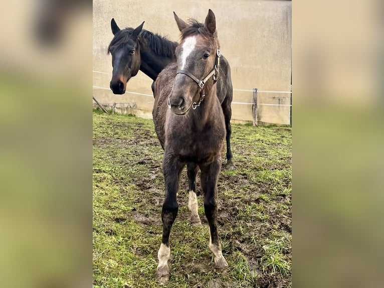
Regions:
[[[169,234],[178,211],[176,194],[183,166],[184,164],[177,159],[164,154],[163,174],[165,182],[165,199],[161,210],[163,231],[160,249],[157,253],[159,263],[156,270],[156,278],[160,284],[165,284],[169,279]]]

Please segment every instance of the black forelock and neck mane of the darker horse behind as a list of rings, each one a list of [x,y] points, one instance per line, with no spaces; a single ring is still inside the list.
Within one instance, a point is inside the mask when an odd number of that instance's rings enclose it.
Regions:
[[[120,47],[132,36],[133,28],[125,28],[116,33],[108,47],[108,53]],[[173,57],[177,42],[168,40],[164,36],[153,34],[150,31],[142,30],[139,35],[140,47],[149,47],[156,54],[164,57]]]

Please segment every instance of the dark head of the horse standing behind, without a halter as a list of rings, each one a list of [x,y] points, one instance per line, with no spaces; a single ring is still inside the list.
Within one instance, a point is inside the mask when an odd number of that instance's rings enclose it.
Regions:
[[[108,47],[112,54],[112,80],[110,88],[114,94],[124,94],[128,80],[135,76],[140,68],[139,35],[144,22],[136,29],[120,29],[112,18],[111,28],[114,35]]]

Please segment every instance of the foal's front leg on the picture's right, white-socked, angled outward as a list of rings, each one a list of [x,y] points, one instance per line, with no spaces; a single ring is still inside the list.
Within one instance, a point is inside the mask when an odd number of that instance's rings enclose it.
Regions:
[[[217,180],[220,173],[221,160],[217,159],[208,166],[201,166],[201,182],[204,193],[204,210],[210,224],[210,250],[214,253],[215,267],[227,269],[228,263],[225,260],[220,244],[217,225]]]

